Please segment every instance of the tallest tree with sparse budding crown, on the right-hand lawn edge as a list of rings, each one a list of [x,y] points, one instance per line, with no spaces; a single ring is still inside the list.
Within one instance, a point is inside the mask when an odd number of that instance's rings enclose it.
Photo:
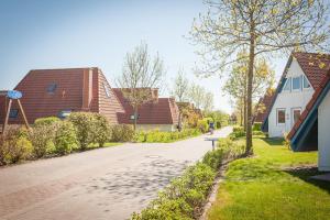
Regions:
[[[295,50],[324,50],[328,7],[322,0],[207,0],[209,11],[195,21],[195,43],[205,45],[199,54],[206,64],[200,74],[215,74],[237,63],[248,50],[246,154],[252,146],[252,85],[255,58]]]

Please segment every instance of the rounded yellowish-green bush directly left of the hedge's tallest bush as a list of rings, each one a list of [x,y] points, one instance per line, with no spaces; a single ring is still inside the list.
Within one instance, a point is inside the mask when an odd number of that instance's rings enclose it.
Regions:
[[[73,148],[77,146],[76,129],[69,121],[61,121],[57,124],[55,132],[55,151],[59,155],[72,153]]]

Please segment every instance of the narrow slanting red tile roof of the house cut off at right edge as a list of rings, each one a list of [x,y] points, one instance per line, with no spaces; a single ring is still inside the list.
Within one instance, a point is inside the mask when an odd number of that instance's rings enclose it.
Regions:
[[[326,86],[328,84],[330,84],[330,69],[324,75],[323,79],[319,82],[318,88],[315,90],[311,99],[307,103],[306,109],[302,111],[302,113],[299,117],[298,121],[295,123],[295,125],[293,127],[293,129],[288,133],[287,138],[289,140],[292,140],[294,138],[294,135],[296,134],[296,132],[298,131],[298,129],[300,128],[302,122],[306,120],[306,118],[310,113],[310,110],[312,109],[314,105],[316,103],[318,97],[320,96],[320,94],[322,94],[323,88],[326,88]]]

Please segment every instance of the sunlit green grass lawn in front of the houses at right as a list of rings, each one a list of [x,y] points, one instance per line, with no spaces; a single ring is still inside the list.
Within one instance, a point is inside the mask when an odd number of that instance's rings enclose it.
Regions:
[[[319,174],[317,152],[293,153],[280,140],[254,138],[254,153],[229,165],[210,220],[330,219],[330,183],[309,179]]]

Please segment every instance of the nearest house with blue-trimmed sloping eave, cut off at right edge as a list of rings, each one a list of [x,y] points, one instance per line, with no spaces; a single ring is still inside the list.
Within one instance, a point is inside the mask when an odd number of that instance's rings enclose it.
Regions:
[[[318,150],[319,170],[330,172],[330,70],[288,134],[293,151]]]

